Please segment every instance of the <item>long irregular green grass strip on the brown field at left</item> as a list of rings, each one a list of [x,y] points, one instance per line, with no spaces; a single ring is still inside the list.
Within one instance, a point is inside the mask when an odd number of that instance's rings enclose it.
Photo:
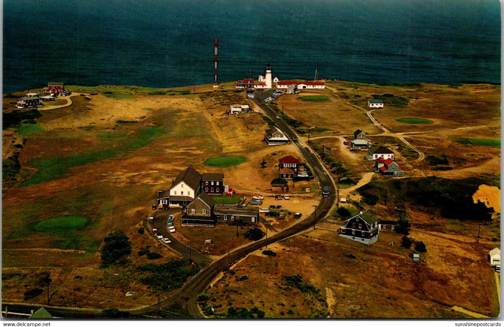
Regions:
[[[72,167],[109,159],[121,153],[145,147],[160,132],[161,128],[162,126],[140,128],[139,136],[118,139],[121,141],[120,146],[114,149],[87,152],[70,157],[52,157],[36,161],[32,164],[32,167],[37,168],[38,171],[30,179],[21,183],[21,186],[49,181],[65,174]]]

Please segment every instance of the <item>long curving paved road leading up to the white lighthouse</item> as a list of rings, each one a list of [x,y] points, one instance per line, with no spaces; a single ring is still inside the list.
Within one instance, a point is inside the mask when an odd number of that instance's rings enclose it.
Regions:
[[[256,103],[262,108],[263,112],[268,115],[277,126],[292,140],[292,138],[297,138],[294,131],[281,119],[275,118],[276,113],[269,108],[262,100],[271,95],[271,92],[256,92]],[[226,270],[233,263],[239,259],[246,256],[248,253],[253,252],[257,249],[265,247],[266,244],[275,243],[293,236],[305,229],[312,228],[315,223],[323,219],[333,207],[336,201],[335,186],[331,176],[324,169],[323,164],[319,158],[311,152],[311,150],[304,145],[301,141],[294,142],[298,147],[305,161],[311,168],[313,175],[320,182],[321,186],[328,186],[330,190],[330,196],[328,198],[322,198],[318,208],[317,216],[313,214],[306,217],[304,220],[298,222],[297,224],[285,229],[284,231],[269,237],[268,239],[262,239],[257,242],[251,243],[247,246],[235,249],[213,263],[205,267],[194,276],[191,280],[187,281],[185,285],[172,297],[164,300],[161,303],[161,311],[165,313],[167,318],[180,318],[180,315],[190,316],[192,318],[202,318],[199,311],[198,304],[196,301],[197,296],[204,292],[210,285],[212,280],[214,280],[219,273]],[[168,310],[172,313],[169,313]],[[153,314],[157,311],[157,305],[153,305],[147,308],[142,308],[132,311],[136,315],[141,314]],[[179,314],[174,315],[173,312]]]

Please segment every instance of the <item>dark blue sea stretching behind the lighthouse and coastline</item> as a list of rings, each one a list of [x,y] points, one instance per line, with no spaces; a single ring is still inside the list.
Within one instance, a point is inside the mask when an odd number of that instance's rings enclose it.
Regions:
[[[280,79],[500,83],[498,0],[4,0],[4,92]],[[257,78],[257,77],[256,77]]]

